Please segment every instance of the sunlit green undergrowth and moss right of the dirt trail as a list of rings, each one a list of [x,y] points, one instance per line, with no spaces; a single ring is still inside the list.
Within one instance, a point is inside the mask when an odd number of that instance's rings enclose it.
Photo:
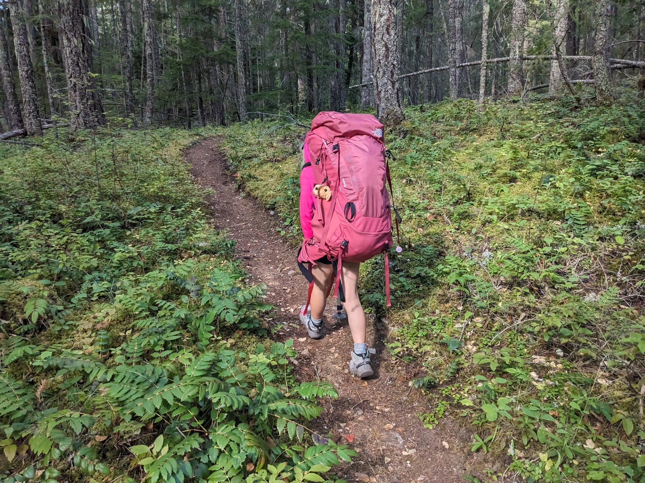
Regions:
[[[407,109],[386,139],[404,251],[392,311],[382,258],[361,298],[391,319],[393,361],[420,371],[422,421],[472,422],[472,450],[508,458],[507,476],[645,478],[644,107],[631,92],[601,107],[458,100]],[[277,126],[231,128],[228,153],[297,240],[305,129]]]

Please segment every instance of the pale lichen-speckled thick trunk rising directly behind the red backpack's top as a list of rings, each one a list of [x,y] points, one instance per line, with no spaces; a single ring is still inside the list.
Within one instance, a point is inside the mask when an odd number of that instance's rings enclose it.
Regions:
[[[405,116],[399,84],[397,22],[392,0],[372,1],[372,35],[377,114],[383,124],[397,126]]]

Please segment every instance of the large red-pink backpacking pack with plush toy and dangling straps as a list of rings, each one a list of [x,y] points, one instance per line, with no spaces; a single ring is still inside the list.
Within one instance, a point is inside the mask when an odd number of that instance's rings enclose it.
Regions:
[[[319,193],[312,219],[313,238],[304,240],[298,261],[315,263],[328,256],[337,261],[334,296],[337,296],[342,261],[366,261],[384,253],[385,294],[390,307],[388,251],[392,247],[392,209],[399,234],[399,214],[390,204],[392,191],[383,125],[371,114],[321,112],[306,135],[313,176]],[[331,196],[329,192],[331,191]],[[397,251],[400,249],[397,247]],[[309,295],[313,288],[310,281]],[[331,287],[330,287],[331,289]],[[309,306],[309,297],[304,308]]]

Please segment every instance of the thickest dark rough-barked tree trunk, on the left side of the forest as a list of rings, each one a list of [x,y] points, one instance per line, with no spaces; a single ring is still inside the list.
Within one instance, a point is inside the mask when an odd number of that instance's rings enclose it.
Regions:
[[[63,44],[72,130],[95,128],[102,116],[100,104],[95,102],[98,90],[93,85],[91,44],[83,16],[83,0],[61,0],[59,3],[58,32]]]

